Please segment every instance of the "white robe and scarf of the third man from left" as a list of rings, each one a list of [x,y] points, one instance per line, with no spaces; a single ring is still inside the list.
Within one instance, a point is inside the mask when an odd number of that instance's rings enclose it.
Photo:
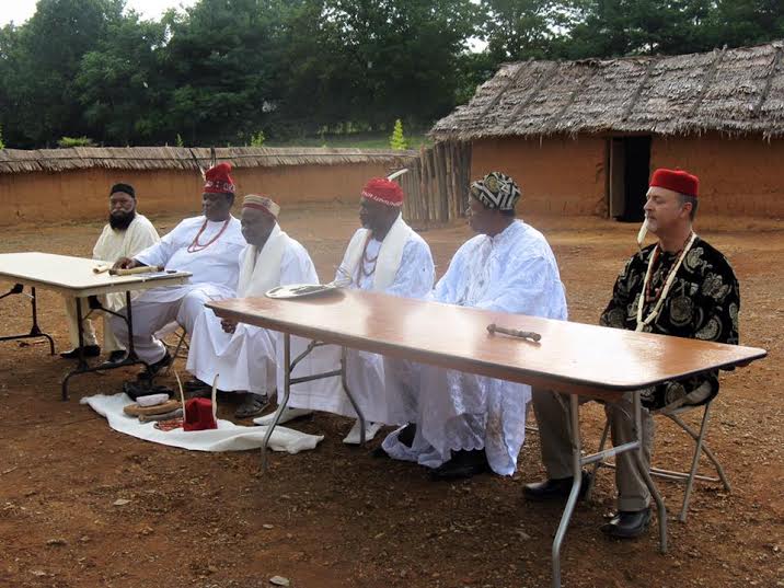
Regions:
[[[264,296],[276,286],[318,284],[313,262],[305,249],[276,224],[257,252],[247,245],[240,258],[238,298]],[[240,323],[233,334],[226,333],[221,320],[205,308],[191,334],[187,370],[203,382],[227,392],[267,394],[275,390],[279,333]],[[295,337],[300,347],[307,345]],[[299,373],[299,370],[297,371]]]

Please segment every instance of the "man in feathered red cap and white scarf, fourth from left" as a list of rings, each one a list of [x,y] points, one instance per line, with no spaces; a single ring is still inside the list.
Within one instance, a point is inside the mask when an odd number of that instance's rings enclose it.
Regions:
[[[430,291],[435,277],[430,247],[403,220],[403,198],[401,186],[390,180],[377,177],[365,185],[359,204],[362,228],[354,233],[348,243],[335,283],[405,298],[423,298]],[[316,348],[313,355],[314,364],[325,367],[321,371],[338,366],[341,353],[335,346]],[[311,366],[310,369],[315,368]],[[391,385],[396,381],[387,372],[402,369],[405,369],[403,362],[384,361],[378,354],[348,349],[347,383],[366,418],[366,439],[371,439],[384,424],[408,422],[410,411],[399,402],[388,404],[385,400],[390,395],[385,392],[388,381],[392,380]],[[339,378],[292,385],[289,408],[284,412],[280,422],[312,411],[357,417]],[[256,419],[260,425],[270,422],[272,415]],[[357,418],[344,442],[359,443],[360,430]]]

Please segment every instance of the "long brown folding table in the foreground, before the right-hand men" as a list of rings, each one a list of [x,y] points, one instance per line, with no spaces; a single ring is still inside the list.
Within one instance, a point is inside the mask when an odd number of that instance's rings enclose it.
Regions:
[[[553,541],[555,588],[561,587],[561,546],[580,492],[581,470],[588,463],[621,452],[632,453],[656,501],[660,551],[667,551],[667,510],[641,458],[641,389],[716,368],[746,366],[766,355],[764,349],[753,347],[634,333],[361,290],[335,290],[299,299],[232,299],[207,305],[218,316],[284,334],[284,396],[267,435],[286,407],[291,383],[297,381],[290,377],[291,370],[302,356],[292,364],[291,335],[568,394],[574,483]],[[541,339],[532,342],[491,334],[487,326],[493,323],[539,333]],[[321,376],[342,376],[345,387],[345,361],[341,370]],[[350,399],[350,392],[346,392]],[[636,440],[583,456],[579,396],[613,402],[625,392],[637,392],[633,411]],[[361,413],[359,417],[364,420]],[[364,423],[360,424],[364,430]]]

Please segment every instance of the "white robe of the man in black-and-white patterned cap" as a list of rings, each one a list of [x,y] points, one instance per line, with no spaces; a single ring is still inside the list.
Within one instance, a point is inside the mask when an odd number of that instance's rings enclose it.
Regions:
[[[521,220],[496,237],[477,235],[454,254],[431,299],[566,320],[566,298],[544,237]],[[438,468],[452,450],[484,449],[494,472],[511,475],[526,435],[531,388],[433,366],[415,366],[416,436],[411,448],[384,439],[396,459]]]

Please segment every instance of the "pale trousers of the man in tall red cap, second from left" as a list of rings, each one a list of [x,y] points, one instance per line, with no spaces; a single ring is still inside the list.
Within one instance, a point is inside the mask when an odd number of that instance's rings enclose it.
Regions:
[[[222,300],[233,295],[226,287],[215,284],[188,284],[175,288],[147,290],[131,302],[134,315],[134,347],[139,359],[154,364],[163,359],[166,349],[154,336],[172,321],[176,321],[189,334],[196,319],[204,310],[205,302]],[[125,309],[120,311],[125,314]],[[118,316],[111,319],[112,330],[117,339],[127,347],[128,325]]]

